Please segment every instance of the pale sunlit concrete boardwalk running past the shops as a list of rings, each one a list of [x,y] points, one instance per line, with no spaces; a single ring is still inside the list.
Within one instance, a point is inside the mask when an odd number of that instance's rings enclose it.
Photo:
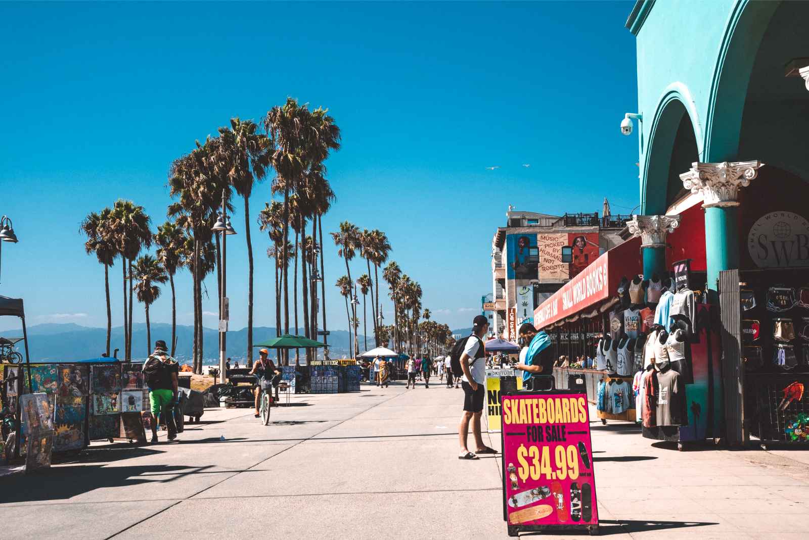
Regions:
[[[462,397],[363,386],[296,396],[267,427],[211,409],[179,443],[93,445],[0,479],[0,538],[507,538],[499,456],[456,459]],[[807,538],[809,453],[678,452],[591,426],[602,535]]]

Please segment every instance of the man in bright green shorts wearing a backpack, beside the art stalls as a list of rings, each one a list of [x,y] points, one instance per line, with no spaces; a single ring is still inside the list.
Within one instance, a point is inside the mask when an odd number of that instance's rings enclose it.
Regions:
[[[166,342],[155,341],[155,352],[149,355],[143,364],[143,379],[149,388],[149,402],[151,403],[152,442],[157,442],[158,416],[168,429],[168,440],[177,438],[177,428],[174,424],[174,406],[177,404],[177,373],[180,365],[171,356],[168,356]]]

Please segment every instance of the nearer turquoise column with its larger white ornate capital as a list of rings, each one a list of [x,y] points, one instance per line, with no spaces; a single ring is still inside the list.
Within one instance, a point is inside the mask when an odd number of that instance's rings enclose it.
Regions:
[[[711,302],[716,297],[719,272],[739,268],[739,188],[750,185],[764,163],[759,161],[694,162],[680,175],[683,186],[701,193],[705,209],[705,263]]]

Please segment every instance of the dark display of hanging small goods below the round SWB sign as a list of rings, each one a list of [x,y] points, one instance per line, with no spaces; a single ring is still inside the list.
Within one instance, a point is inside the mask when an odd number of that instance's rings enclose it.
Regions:
[[[739,300],[747,431],[809,445],[809,271],[740,271]]]

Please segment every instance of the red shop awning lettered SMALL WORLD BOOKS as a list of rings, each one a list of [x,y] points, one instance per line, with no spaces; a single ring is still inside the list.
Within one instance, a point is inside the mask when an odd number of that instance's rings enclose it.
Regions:
[[[640,238],[632,238],[595,259],[534,310],[534,326],[547,327],[615,296],[622,276],[642,272],[640,244]]]

